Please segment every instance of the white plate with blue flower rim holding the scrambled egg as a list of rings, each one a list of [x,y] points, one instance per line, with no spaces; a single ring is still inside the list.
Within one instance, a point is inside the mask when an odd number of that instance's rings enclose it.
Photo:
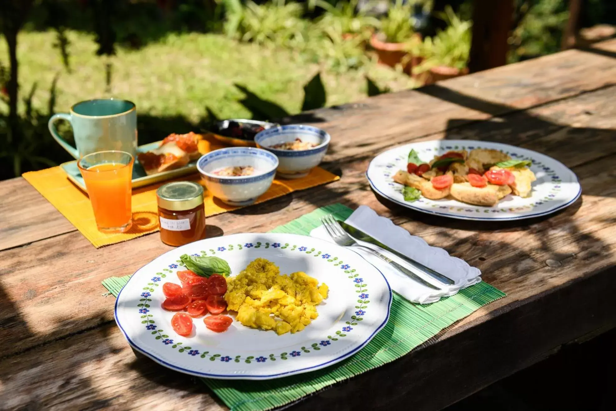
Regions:
[[[182,254],[223,258],[232,276],[266,258],[281,274],[304,271],[325,282],[329,295],[317,307],[318,318],[298,333],[279,336],[235,320],[215,333],[197,318],[192,334],[182,337],[171,327],[174,313],[161,307],[162,285],[180,284]],[[166,367],[208,378],[267,380],[318,370],[359,351],[385,326],[391,301],[383,274],[351,250],[296,234],[234,234],[181,246],[139,269],[118,295],[115,319],[134,349]]]

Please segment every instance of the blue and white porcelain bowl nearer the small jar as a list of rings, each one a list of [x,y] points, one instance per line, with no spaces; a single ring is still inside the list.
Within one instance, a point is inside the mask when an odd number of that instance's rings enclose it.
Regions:
[[[225,167],[253,166],[251,176],[218,176],[214,171]],[[232,206],[254,203],[269,189],[276,174],[278,158],[253,147],[232,147],[214,150],[201,156],[197,169],[205,186],[214,197]]]

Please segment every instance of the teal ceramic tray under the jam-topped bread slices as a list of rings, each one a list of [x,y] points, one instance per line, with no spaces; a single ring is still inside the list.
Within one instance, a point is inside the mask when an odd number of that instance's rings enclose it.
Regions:
[[[143,153],[152,149],[157,149],[159,145],[160,141],[140,145],[139,147],[137,147],[137,152]],[[67,173],[67,177],[70,181],[75,183],[75,185],[77,185],[80,189],[87,192],[86,184],[84,183],[83,177],[81,177],[81,172],[79,171],[79,168],[77,166],[77,160],[62,163],[60,165],[60,168],[62,168],[64,172]],[[181,168],[163,171],[163,173],[152,174],[152,176],[148,176],[147,174],[145,174],[145,170],[139,164],[139,161],[135,160],[135,165],[132,167],[132,188],[136,189],[137,187],[143,187],[144,185],[154,184],[156,182],[184,176],[185,174],[194,173],[195,171],[197,171],[197,160],[190,161],[190,163]]]

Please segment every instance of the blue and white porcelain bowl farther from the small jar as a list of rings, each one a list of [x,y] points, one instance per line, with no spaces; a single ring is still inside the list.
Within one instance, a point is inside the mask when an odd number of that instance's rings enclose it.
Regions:
[[[291,142],[295,139],[302,142],[317,144],[308,150],[280,150],[273,149],[272,145]],[[257,147],[261,147],[278,157],[278,176],[285,178],[299,178],[307,176],[310,170],[318,166],[330,145],[330,135],[320,128],[293,124],[279,126],[259,132],[254,136]]]

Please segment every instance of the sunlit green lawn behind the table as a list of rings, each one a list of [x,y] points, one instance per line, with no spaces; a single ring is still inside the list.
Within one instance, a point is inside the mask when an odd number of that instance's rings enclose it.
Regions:
[[[224,35],[170,34],[139,50],[118,47],[113,57],[97,57],[94,36],[68,31],[70,68],[62,65],[60,52],[52,47],[55,34],[20,33],[20,97],[36,83],[33,107],[46,112],[49,90],[58,75],[56,112],[67,112],[72,104],[96,97],[132,100],[137,113],[169,118],[181,116],[198,123],[206,107],[219,118],[250,116],[238,100],[241,84],[262,99],[271,100],[290,113],[301,109],[302,87],[318,71],[327,91],[327,105],[338,105],[366,97],[365,76],[379,87],[392,91],[413,86],[408,76],[371,62],[357,71],[334,73],[286,49],[238,43]],[[0,62],[7,66],[7,49],[0,41]],[[105,63],[111,63],[110,89],[105,84]],[[0,107],[0,110],[5,108]],[[23,110],[23,107],[22,107]],[[161,136],[163,137],[163,136]]]

